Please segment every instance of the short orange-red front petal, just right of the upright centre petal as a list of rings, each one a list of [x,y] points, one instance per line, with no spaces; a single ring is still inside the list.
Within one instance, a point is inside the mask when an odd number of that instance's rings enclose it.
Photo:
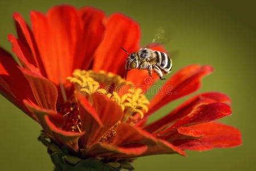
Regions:
[[[145,145],[155,145],[156,139],[150,133],[143,131],[133,125],[120,123],[116,128],[114,145],[123,146],[127,144],[140,143]]]

